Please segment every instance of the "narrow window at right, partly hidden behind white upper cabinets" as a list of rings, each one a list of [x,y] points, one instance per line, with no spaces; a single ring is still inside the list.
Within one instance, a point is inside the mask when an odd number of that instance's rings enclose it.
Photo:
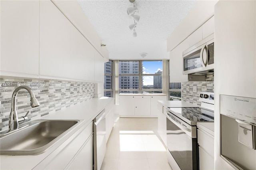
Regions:
[[[170,71],[168,77],[170,77]],[[170,101],[181,100],[181,83],[171,83],[169,80],[169,96]]]

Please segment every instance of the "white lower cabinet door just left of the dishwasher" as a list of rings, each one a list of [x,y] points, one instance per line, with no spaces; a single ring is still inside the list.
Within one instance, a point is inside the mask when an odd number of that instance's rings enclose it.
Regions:
[[[70,170],[92,170],[93,166],[93,136],[91,136],[76,154]]]

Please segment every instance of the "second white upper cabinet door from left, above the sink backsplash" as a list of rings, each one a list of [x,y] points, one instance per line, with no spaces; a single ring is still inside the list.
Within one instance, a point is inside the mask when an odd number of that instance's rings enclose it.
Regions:
[[[40,75],[71,78],[69,20],[50,1],[40,1]]]

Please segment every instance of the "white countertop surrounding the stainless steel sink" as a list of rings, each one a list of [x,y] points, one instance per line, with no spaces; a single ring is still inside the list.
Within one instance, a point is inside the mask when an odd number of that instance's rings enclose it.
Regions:
[[[77,130],[82,127],[88,126],[92,120],[104,109],[106,106],[113,101],[114,98],[102,97],[100,99],[93,98],[82,103],[72,105],[66,109],[57,111],[56,113],[50,113],[47,116],[42,117],[42,119],[58,119],[58,120],[69,120],[69,119],[79,119],[81,120],[79,126],[72,130],[74,134]],[[70,135],[72,135],[70,134]],[[74,135],[72,136],[74,137]],[[71,136],[69,137],[71,138]],[[66,139],[68,140],[68,139]],[[60,142],[65,142],[66,140]],[[0,156],[0,169],[33,169],[38,165],[44,158],[49,156],[56,148],[54,144],[46,152],[38,155],[25,155],[25,156],[10,156],[1,155]]]

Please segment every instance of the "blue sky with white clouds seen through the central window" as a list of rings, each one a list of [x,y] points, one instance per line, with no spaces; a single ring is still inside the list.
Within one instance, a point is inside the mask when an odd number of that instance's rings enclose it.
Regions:
[[[142,65],[143,74],[154,74],[158,70],[163,70],[162,61],[143,61]],[[153,76],[143,76],[143,85],[153,85]]]

